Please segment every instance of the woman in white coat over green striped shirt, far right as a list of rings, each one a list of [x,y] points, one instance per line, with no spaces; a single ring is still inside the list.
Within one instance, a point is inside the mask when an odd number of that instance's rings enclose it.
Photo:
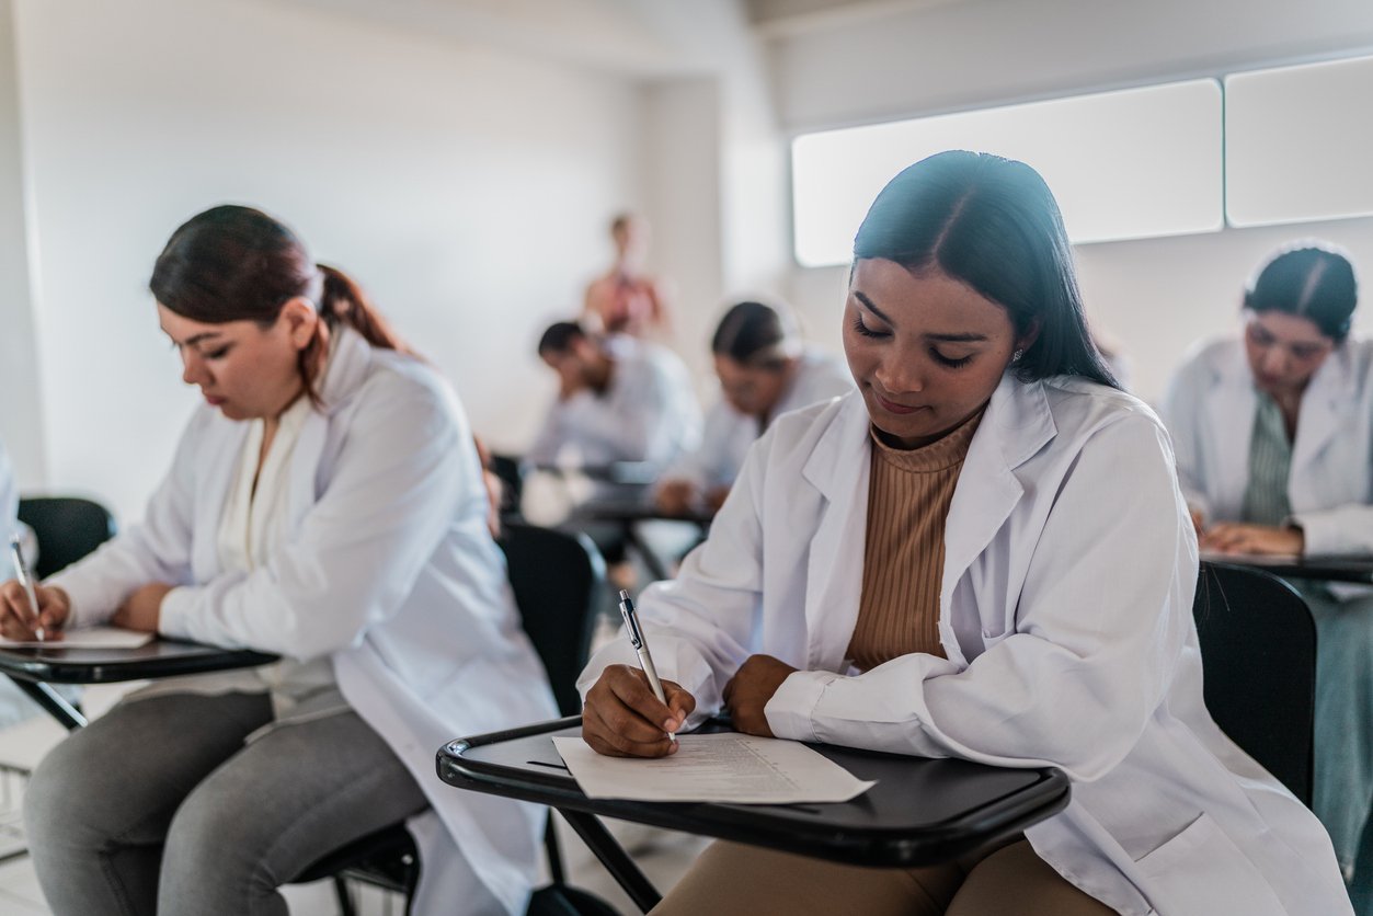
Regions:
[[[1243,336],[1199,345],[1164,417],[1203,549],[1373,553],[1373,341],[1350,336],[1357,287],[1324,243],[1270,258]],[[1296,584],[1317,625],[1314,808],[1346,878],[1373,806],[1373,589]]]

